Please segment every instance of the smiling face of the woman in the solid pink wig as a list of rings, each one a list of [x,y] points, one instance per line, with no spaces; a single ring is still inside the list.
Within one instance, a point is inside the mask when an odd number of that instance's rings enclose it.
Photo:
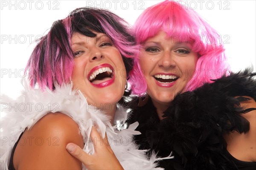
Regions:
[[[147,93],[154,106],[164,111],[175,95],[184,92],[192,78],[198,54],[192,45],[180,43],[159,31],[143,43],[140,67],[147,82]]]

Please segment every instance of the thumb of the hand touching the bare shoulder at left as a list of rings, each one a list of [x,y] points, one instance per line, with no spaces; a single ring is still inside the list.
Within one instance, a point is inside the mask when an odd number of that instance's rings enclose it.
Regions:
[[[88,162],[90,156],[86,152],[84,152],[78,145],[74,143],[68,143],[66,149],[72,156],[79,159],[79,161],[81,161],[83,164],[87,165],[86,162]]]

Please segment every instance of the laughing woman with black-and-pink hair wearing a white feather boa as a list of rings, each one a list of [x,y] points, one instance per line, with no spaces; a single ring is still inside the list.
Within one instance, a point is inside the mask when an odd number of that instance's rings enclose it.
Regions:
[[[83,169],[154,169],[156,159],[137,150],[137,123],[128,127],[122,108],[138,50],[129,31],[120,17],[96,8],[53,23],[32,52],[22,95],[1,98],[10,103],[1,118],[1,169],[81,169],[70,155],[74,144],[86,152]],[[102,158],[107,163],[91,164]]]

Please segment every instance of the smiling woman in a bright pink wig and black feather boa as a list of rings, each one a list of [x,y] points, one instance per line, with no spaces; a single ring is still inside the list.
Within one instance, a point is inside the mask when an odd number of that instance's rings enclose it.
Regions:
[[[141,46],[130,73],[130,122],[140,149],[174,159],[166,170],[256,168],[256,74],[234,74],[219,34],[199,14],[166,0],[134,25]],[[150,154],[150,153],[149,153]]]

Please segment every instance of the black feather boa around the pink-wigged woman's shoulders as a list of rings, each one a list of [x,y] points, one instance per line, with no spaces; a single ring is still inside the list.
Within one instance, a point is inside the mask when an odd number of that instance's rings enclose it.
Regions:
[[[249,122],[241,113],[255,108],[241,108],[250,96],[256,100],[256,74],[249,71],[231,73],[195,91],[178,94],[159,120],[151,100],[134,107],[130,123],[139,122],[135,140],[140,149],[152,149],[158,156],[171,152],[175,159],[160,162],[166,170],[235,170],[226,156],[223,135],[233,130],[246,133]],[[135,99],[131,102],[134,103]]]

